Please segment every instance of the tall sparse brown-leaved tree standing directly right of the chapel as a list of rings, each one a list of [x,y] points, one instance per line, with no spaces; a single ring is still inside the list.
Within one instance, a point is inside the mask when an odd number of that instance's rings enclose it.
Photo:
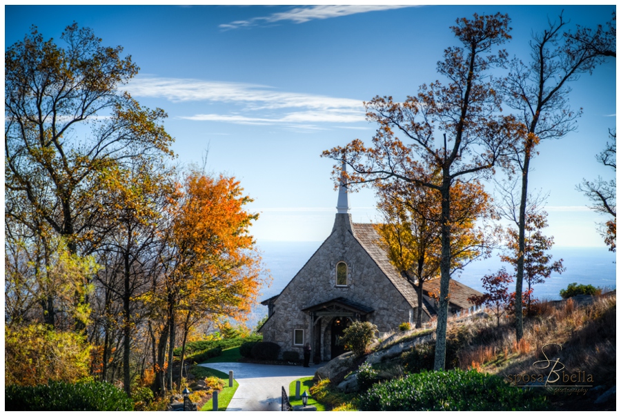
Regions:
[[[510,39],[509,17],[502,14],[457,19],[451,27],[460,47],[447,48],[437,72],[449,83],[423,85],[418,95],[400,103],[392,97],[375,97],[365,103],[367,118],[380,127],[373,147],[360,140],[344,148],[326,150],[323,155],[345,161],[353,173],[348,184],[369,181],[402,180],[431,188],[440,194],[442,257],[440,260],[440,305],[434,368],[444,368],[446,323],[449,316],[451,279],[451,237],[455,222],[451,218],[451,188],[455,181],[490,173],[505,151],[513,128],[511,119],[500,117],[500,97],[487,78],[489,70],[502,65],[506,52],[492,51]],[[411,143],[395,136],[395,130]],[[440,133],[440,137],[437,134]],[[421,160],[422,159],[422,160]],[[440,175],[426,175],[424,166]]]

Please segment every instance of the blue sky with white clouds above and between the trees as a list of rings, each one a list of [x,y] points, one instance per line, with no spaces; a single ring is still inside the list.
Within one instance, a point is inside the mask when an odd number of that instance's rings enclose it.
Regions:
[[[564,9],[564,10],[563,10]],[[508,13],[511,56],[528,59],[533,32],[564,19],[594,27],[615,6],[5,6],[5,48],[35,25],[59,40],[73,21],[104,45],[124,47],[141,68],[126,88],[164,108],[181,164],[200,164],[241,182],[261,212],[259,241],[319,241],[331,230],[337,192],[322,150],[370,141],[362,101],[405,99],[437,79],[459,17]],[[604,246],[605,217],[575,190],[582,178],[611,177],[595,155],[616,123],[615,61],[571,83],[584,115],[578,130],[542,143],[531,185],[550,192],[547,234],[558,246]],[[350,197],[355,221],[376,219],[373,191]]]

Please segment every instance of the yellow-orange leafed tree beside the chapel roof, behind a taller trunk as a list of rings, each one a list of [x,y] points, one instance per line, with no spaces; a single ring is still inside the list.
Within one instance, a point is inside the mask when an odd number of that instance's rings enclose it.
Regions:
[[[416,288],[417,328],[422,327],[424,282],[440,273],[440,193],[417,184],[395,181],[377,183],[377,208],[384,224],[378,224],[380,245],[391,264]],[[492,216],[489,196],[478,181],[456,181],[451,188],[451,219],[455,224],[451,244],[451,274],[466,264],[489,255],[493,242],[488,232],[475,227],[475,221]]]

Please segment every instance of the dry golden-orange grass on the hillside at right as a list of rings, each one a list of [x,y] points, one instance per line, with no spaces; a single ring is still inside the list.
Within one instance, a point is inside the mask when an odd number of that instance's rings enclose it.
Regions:
[[[616,295],[598,297],[593,304],[578,306],[573,299],[538,305],[540,315],[526,321],[518,342],[509,319],[495,327],[493,319],[468,325],[466,345],[460,348],[460,368],[475,368],[502,377],[533,373],[533,362],[548,355],[558,357],[566,373],[592,374],[595,384],[614,385],[616,377]],[[457,330],[455,326],[451,330]],[[449,332],[451,331],[449,330]]]

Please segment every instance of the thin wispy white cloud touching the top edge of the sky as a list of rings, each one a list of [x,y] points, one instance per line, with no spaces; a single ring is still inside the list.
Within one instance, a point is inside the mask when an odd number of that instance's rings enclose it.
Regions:
[[[276,23],[278,21],[293,21],[293,23],[306,23],[307,21],[317,19],[331,19],[333,17],[343,17],[349,14],[366,13],[366,12],[378,12],[382,10],[392,10],[407,6],[365,6],[365,5],[353,5],[353,6],[305,6],[296,7],[286,12],[273,13],[265,17],[254,17],[249,20],[237,20],[231,23],[221,24],[219,28],[237,29],[247,28],[249,26],[257,26],[265,23]]]

